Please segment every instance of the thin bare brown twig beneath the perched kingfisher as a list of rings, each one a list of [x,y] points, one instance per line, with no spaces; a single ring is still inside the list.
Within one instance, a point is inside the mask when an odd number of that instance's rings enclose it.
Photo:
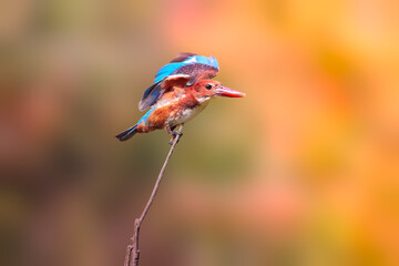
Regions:
[[[168,160],[171,158],[172,156],[172,153],[173,153],[173,150],[175,149],[180,137],[182,136],[182,130],[183,130],[183,124],[180,125],[178,127],[178,134],[176,134],[176,136],[174,137],[173,142],[172,142],[172,146],[171,146],[171,150],[165,158],[165,162],[161,168],[161,172],[158,174],[158,177],[155,182],[155,185],[154,185],[154,188],[151,193],[151,196],[140,216],[140,218],[136,218],[134,221],[134,234],[132,236],[132,245],[127,245],[127,249],[126,249],[126,256],[125,256],[125,262],[124,262],[124,266],[139,266],[139,259],[140,259],[140,249],[139,249],[139,237],[140,237],[140,226],[141,224],[143,223],[144,218],[145,218],[145,215],[147,214],[150,207],[151,207],[151,204],[153,203],[154,201],[154,197],[156,195],[156,192],[158,190],[158,186],[160,186],[160,183],[161,183],[161,180],[162,180],[162,176],[165,172],[165,168],[166,168],[166,165],[168,163]]]

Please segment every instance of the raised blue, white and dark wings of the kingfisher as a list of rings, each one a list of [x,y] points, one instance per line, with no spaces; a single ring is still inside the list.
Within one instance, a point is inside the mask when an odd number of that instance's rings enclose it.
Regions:
[[[144,91],[139,103],[139,110],[143,111],[152,106],[168,88],[163,86],[165,79],[173,74],[190,75],[186,85],[194,84],[197,80],[212,79],[218,72],[218,62],[214,57],[206,58],[195,53],[178,53],[171,63],[161,68],[155,74],[154,84]]]

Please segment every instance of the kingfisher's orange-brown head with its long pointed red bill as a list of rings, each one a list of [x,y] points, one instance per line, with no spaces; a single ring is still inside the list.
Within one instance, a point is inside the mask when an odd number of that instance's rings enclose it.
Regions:
[[[201,80],[193,84],[195,98],[200,101],[206,101],[214,96],[243,98],[245,93],[222,85],[218,81]]]

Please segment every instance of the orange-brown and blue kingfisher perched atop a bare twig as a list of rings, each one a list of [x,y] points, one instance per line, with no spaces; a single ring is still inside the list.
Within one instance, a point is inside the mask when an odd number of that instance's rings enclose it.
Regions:
[[[176,135],[182,134],[174,129],[195,117],[212,99],[245,96],[245,93],[212,80],[218,71],[218,62],[214,57],[178,53],[161,68],[154,83],[144,91],[139,110],[151,109],[135,125],[117,134],[117,140],[127,141],[136,133],[165,129],[172,135],[172,144]]]

